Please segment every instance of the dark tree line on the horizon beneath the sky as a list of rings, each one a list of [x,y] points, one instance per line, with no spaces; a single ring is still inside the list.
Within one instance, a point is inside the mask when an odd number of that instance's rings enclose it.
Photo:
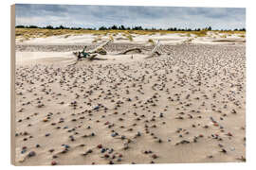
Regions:
[[[15,26],[17,28],[45,28],[45,29],[72,29],[72,30],[79,30],[79,29],[85,29],[85,30],[97,30],[97,28],[84,28],[84,27],[67,27],[67,26],[22,26],[22,25],[19,25],[19,26]],[[98,28],[98,30],[169,30],[169,31],[200,31],[200,30],[212,30],[211,29],[211,26],[208,26],[208,27],[204,27],[204,28],[177,28],[177,27],[169,27],[167,29],[162,29],[162,28],[155,28],[155,27],[152,27],[152,28],[143,28],[142,26],[133,26],[133,27],[125,27],[123,25],[121,26],[101,26]],[[214,29],[214,30],[218,30],[218,29]],[[235,29],[220,29],[221,31],[231,31],[231,30],[234,30],[234,31],[246,31],[246,28],[235,28]]]

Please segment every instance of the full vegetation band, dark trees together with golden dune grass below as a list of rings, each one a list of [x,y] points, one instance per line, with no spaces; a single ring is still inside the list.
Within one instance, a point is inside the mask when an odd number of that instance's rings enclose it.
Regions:
[[[178,28],[168,28],[168,29],[155,29],[155,28],[142,28],[141,26],[135,27],[124,27],[124,26],[110,26],[110,27],[100,27],[96,28],[81,28],[81,27],[64,27],[64,26],[16,26],[15,28],[15,37],[21,40],[29,40],[30,38],[39,38],[39,37],[50,37],[50,36],[60,36],[60,35],[80,35],[80,34],[93,34],[96,36],[107,36],[112,35],[113,37],[118,34],[124,34],[131,42],[133,41],[132,35],[165,35],[165,34],[174,34],[179,33],[187,35],[190,37],[194,34],[197,37],[207,36],[208,31],[218,34],[239,34],[245,35],[246,29],[235,29],[235,30],[211,30],[211,27],[204,29],[178,29]],[[68,36],[66,36],[67,38]],[[243,36],[242,36],[243,37]]]

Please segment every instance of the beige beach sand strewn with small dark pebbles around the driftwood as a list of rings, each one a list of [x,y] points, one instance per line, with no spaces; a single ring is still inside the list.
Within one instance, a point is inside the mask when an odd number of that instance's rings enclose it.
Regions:
[[[153,45],[114,42],[68,66],[82,44],[40,41],[16,45],[17,165],[246,158],[245,43],[162,43],[146,59]]]

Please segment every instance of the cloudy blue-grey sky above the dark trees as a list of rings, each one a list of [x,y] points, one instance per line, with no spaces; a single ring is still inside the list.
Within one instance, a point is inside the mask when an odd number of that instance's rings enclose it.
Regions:
[[[246,27],[246,8],[16,5],[16,26]]]

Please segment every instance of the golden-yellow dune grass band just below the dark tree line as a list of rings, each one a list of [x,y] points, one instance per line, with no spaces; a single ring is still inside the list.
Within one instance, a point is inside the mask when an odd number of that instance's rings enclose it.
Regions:
[[[226,34],[242,34],[245,35],[246,31],[211,31],[214,33],[226,33]],[[118,33],[124,34],[130,41],[133,41],[131,34],[137,35],[154,35],[159,33],[160,35],[165,34],[174,34],[180,33],[185,35],[194,34],[196,37],[207,36],[208,30],[200,31],[170,31],[170,30],[72,30],[72,29],[45,29],[45,28],[15,28],[16,38],[23,40],[29,40],[30,38],[39,38],[39,37],[50,37],[50,36],[59,36],[59,35],[78,35],[78,34],[94,34],[94,35],[112,35],[116,36]]]

